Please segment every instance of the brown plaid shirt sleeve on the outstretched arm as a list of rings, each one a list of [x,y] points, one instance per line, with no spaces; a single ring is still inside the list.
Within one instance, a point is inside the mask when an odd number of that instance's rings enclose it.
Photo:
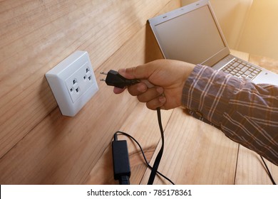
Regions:
[[[185,82],[182,104],[192,115],[278,165],[278,87],[255,85],[197,65]]]

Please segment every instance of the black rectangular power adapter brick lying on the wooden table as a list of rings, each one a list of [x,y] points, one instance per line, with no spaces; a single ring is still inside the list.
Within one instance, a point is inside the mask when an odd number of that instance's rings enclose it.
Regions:
[[[126,140],[118,140],[115,134],[112,141],[114,179],[121,185],[129,185],[130,163],[128,158],[128,144]]]

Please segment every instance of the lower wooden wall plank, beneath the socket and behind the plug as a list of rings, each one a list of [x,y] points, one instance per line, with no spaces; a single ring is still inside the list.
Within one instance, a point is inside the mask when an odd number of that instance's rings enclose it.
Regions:
[[[147,1],[136,1],[138,4],[133,4],[135,1],[128,2],[130,2],[126,3],[128,5],[141,5],[135,9],[140,11],[140,14],[133,14],[134,18],[129,16],[130,23],[132,21],[137,23],[137,20],[143,21],[144,18],[155,15],[160,6],[168,3],[160,1],[159,6],[158,2],[151,3],[148,4],[148,9],[143,9]],[[120,4],[120,6],[123,5]],[[108,13],[109,11],[111,12],[112,8],[108,9]],[[114,49],[115,46],[120,46],[120,48],[114,50],[113,55],[105,60],[105,63],[95,68],[96,79],[101,78],[100,71],[112,68],[118,70],[118,68],[145,63],[146,29],[144,24],[145,22],[142,22],[140,25],[142,26],[139,27],[140,31],[137,28],[131,28],[130,32],[137,30],[137,33],[133,36],[131,36],[132,33],[128,33],[130,38],[126,38],[128,36],[123,34],[123,38],[127,39],[125,43],[115,39],[110,44]],[[104,28],[103,31],[108,30]],[[106,41],[103,38],[103,45],[106,45]],[[93,48],[93,46],[96,47],[95,44],[91,44],[88,48]],[[89,50],[89,52],[92,54],[93,51]],[[137,99],[127,92],[114,95],[113,87],[108,87],[104,82],[98,85],[99,92],[76,117],[63,117],[58,108],[54,109],[0,159],[1,184],[79,184],[85,181],[110,143],[112,134],[120,129],[138,104]]]

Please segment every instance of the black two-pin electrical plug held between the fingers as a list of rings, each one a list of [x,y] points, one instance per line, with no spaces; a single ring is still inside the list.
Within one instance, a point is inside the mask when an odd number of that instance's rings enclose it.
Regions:
[[[140,80],[134,79],[134,80],[128,80],[122,75],[120,75],[115,70],[109,70],[108,73],[101,72],[102,75],[107,75],[106,79],[101,79],[101,81],[105,81],[105,83],[109,86],[124,88],[128,87],[130,85],[135,85],[140,82]]]

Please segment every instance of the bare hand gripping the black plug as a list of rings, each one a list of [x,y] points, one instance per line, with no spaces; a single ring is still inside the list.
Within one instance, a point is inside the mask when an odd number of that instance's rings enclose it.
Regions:
[[[180,107],[182,88],[195,65],[177,60],[155,60],[134,68],[120,69],[127,79],[142,80],[128,87],[130,95],[137,96],[149,109],[173,109]],[[145,80],[148,80],[147,82]],[[153,87],[148,86],[150,82]],[[125,89],[114,87],[115,94]]]

